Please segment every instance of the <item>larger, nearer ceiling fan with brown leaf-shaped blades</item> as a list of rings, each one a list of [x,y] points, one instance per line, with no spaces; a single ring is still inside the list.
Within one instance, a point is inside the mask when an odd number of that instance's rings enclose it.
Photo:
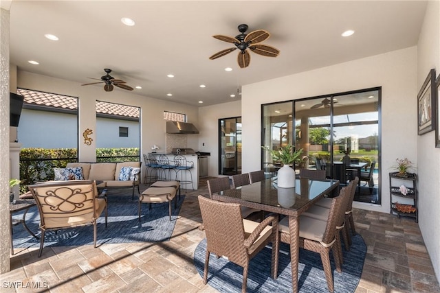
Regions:
[[[217,52],[216,54],[210,56],[210,60],[225,56],[235,49],[240,49],[237,61],[239,62],[239,66],[241,68],[245,68],[248,67],[250,63],[250,54],[248,49],[256,54],[267,57],[276,57],[278,56],[278,54],[280,54],[280,51],[278,49],[268,45],[260,44],[261,42],[263,42],[263,40],[267,40],[267,38],[270,37],[269,32],[266,32],[265,30],[256,30],[254,32],[250,32],[249,34],[245,34],[245,32],[248,30],[248,25],[245,24],[239,25],[238,29],[241,34],[235,36],[235,38],[232,38],[230,36],[223,36],[221,34],[213,36],[218,40],[232,43],[235,45],[235,47]]]

